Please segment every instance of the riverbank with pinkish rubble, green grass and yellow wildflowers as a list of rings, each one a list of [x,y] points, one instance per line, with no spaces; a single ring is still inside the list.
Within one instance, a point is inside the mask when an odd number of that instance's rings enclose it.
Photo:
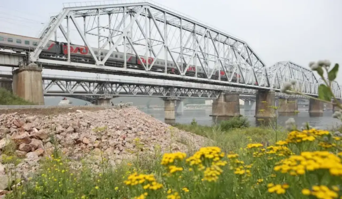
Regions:
[[[279,172],[276,169],[276,162],[290,158],[292,154],[322,150],[335,155],[321,156],[315,152],[312,156],[325,158],[326,162],[335,161],[329,164],[333,167],[342,166],[336,162],[340,160],[340,154],[333,147],[333,144],[342,144],[340,135],[336,133],[330,135],[328,131],[311,130],[312,135],[297,131],[289,134],[285,130],[274,131],[268,127],[248,127],[243,118],[234,123],[224,122],[210,127],[198,125],[196,121],[171,127],[136,108],[36,116],[37,119],[30,117],[2,115],[1,127],[11,131],[13,125],[25,122],[20,127],[25,129],[27,125],[39,121],[44,124],[37,125],[38,132],[40,129],[54,129],[52,135],[55,136],[51,136],[49,141],[52,147],[45,150],[46,140],[41,140],[44,152],[43,157],[39,156],[36,161],[36,171],[19,179],[21,184],[9,185],[12,191],[6,199],[159,199],[167,196],[180,196],[182,199],[301,199],[314,194],[314,185],[327,186],[331,194],[341,195],[340,188],[335,186],[342,183],[341,178],[333,178],[329,169],[319,171],[326,176],[320,182],[317,181],[319,173],[306,170],[305,167],[303,171],[289,168]],[[56,127],[50,128],[49,124],[55,124]],[[237,125],[240,128],[234,128]],[[70,127],[73,128],[72,132]],[[88,135],[83,135],[83,132]],[[298,138],[293,140],[297,135]],[[39,140],[37,136],[33,133],[31,137],[30,133],[28,137],[16,138],[16,142],[22,142],[19,149],[8,147],[2,150],[2,154],[8,154],[2,159],[2,164],[6,167],[12,165],[11,169],[5,170],[6,175],[9,171],[15,173],[18,168],[15,165],[22,164],[17,160],[29,159],[17,157],[15,152],[24,149],[24,145],[34,147],[31,142],[33,139]],[[28,138],[31,139],[30,144],[25,144]],[[331,142],[331,146],[325,141]],[[70,151],[70,147],[78,150]],[[11,150],[13,154],[10,154]],[[49,151],[49,154],[45,151]],[[198,159],[200,156],[202,158]],[[29,165],[29,162],[26,163]],[[320,164],[316,166],[320,168]],[[303,175],[303,172],[309,172],[310,175]]]

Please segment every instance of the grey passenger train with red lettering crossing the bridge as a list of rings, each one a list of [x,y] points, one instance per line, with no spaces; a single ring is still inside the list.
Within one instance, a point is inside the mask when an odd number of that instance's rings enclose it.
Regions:
[[[25,50],[34,50],[36,46],[38,45],[39,39],[33,38],[33,37],[25,37],[20,35],[13,35],[8,33],[0,32],[0,47],[9,47],[9,48],[15,48],[15,49],[25,49]],[[50,40],[48,44],[43,48],[41,55],[44,55],[44,58],[47,59],[66,59],[66,55],[68,54],[68,45],[67,43],[63,42],[56,42]],[[97,48],[92,48],[95,55],[98,56]],[[75,45],[70,43],[70,57],[72,57],[73,61],[76,60],[76,62],[81,63],[91,63],[93,62],[91,53],[89,49],[82,45]],[[104,57],[108,53],[108,50],[101,50],[101,56]],[[127,67],[128,68],[134,68],[134,69],[143,69],[142,63],[146,64],[146,57],[140,56],[141,61],[139,58],[136,57],[134,54],[127,53]],[[155,58],[149,57],[147,62],[148,64],[152,64]],[[121,52],[113,52],[110,57],[108,58],[107,62],[114,62],[114,63],[120,63],[120,66],[122,67],[122,63],[124,62],[123,59],[123,53]],[[141,63],[142,62],[142,63]],[[181,65],[181,63],[179,63]],[[167,72],[169,74],[179,74],[174,62],[168,61],[167,62]],[[185,64],[183,64],[183,68],[185,68]],[[154,68],[156,68],[154,71],[164,72],[165,70],[165,60],[163,59],[157,59],[153,65]],[[203,71],[203,68],[198,66],[197,67],[197,76],[200,78],[206,78],[205,72]],[[190,65],[187,69],[186,76],[194,76],[196,72],[196,67]],[[216,69],[214,72],[212,79],[219,79],[219,70]],[[225,76],[224,71],[220,71],[221,80],[227,81],[227,77]],[[231,77],[231,75],[228,75],[228,77]],[[240,75],[235,74],[232,78],[233,82],[236,82],[237,79],[240,78]],[[241,81],[241,80],[240,80]]]

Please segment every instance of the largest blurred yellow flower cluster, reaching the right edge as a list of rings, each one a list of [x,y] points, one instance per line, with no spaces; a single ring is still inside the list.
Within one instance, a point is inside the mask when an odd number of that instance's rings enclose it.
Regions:
[[[290,173],[290,175],[304,174],[305,170],[329,170],[331,175],[342,176],[341,159],[329,151],[302,152],[281,160],[280,165],[274,167],[275,171]]]

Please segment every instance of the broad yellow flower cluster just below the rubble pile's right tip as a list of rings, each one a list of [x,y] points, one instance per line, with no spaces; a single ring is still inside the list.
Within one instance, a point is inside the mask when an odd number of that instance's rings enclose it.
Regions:
[[[224,153],[221,152],[219,147],[202,147],[193,156],[186,159],[186,162],[192,165],[198,165],[199,169],[204,169],[202,161],[210,159],[212,161],[219,161],[224,157]]]

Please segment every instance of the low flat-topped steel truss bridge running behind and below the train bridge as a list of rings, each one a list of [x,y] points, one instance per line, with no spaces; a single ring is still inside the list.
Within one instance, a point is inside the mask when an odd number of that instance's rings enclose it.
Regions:
[[[237,93],[244,101],[255,101],[256,90],[238,89],[220,85],[176,82],[169,80],[127,80],[89,78],[43,74],[44,96],[70,96],[95,103],[97,98],[118,96],[162,97],[162,98],[210,98],[215,99],[221,93]],[[0,78],[12,78],[11,71],[0,71]],[[287,95],[277,92],[277,98],[301,98],[301,95]]]

